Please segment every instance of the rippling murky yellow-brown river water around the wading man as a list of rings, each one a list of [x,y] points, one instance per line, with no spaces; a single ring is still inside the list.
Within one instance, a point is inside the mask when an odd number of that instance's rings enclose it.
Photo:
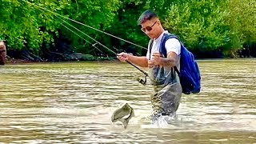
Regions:
[[[151,114],[151,86],[119,62],[0,66],[1,143],[256,143],[256,59],[200,60],[202,91],[182,94],[165,127]],[[144,69],[146,70],[146,69]],[[110,122],[129,103],[127,129]]]

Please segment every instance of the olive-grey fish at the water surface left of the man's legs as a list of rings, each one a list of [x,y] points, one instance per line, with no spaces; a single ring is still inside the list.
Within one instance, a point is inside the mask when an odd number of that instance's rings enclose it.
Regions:
[[[126,129],[130,118],[134,117],[134,109],[128,105],[128,103],[124,104],[118,110],[114,110],[112,114],[111,121],[112,122],[122,122],[122,126]]]

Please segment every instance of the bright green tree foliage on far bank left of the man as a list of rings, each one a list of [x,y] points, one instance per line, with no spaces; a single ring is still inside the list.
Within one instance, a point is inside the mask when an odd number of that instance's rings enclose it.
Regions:
[[[86,26],[70,22],[66,18],[104,30],[112,24],[119,1],[34,0],[31,2],[2,0],[0,3],[2,7],[0,9],[2,20],[0,38],[8,41],[10,49],[30,49],[37,52],[42,46],[42,42],[54,43],[54,36],[58,37],[59,33],[68,35],[73,46],[82,46],[85,44],[86,36],[83,35],[81,39],[70,31],[72,27],[67,30],[63,26],[67,26],[65,22],[79,27],[79,30],[93,38],[97,38],[101,34],[95,33],[94,30]],[[79,32],[76,31],[76,33]]]

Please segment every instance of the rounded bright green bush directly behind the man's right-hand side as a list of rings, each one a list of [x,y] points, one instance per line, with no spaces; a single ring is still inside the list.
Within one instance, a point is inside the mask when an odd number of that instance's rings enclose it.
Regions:
[[[210,0],[178,2],[170,6],[165,26],[191,50],[216,50],[228,41],[227,15]]]

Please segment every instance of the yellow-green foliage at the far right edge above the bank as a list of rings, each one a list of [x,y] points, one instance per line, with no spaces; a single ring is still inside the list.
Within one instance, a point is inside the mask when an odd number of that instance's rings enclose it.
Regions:
[[[231,30],[230,46],[241,48],[247,42],[256,42],[256,1],[227,0],[226,10],[229,16],[226,23]]]

